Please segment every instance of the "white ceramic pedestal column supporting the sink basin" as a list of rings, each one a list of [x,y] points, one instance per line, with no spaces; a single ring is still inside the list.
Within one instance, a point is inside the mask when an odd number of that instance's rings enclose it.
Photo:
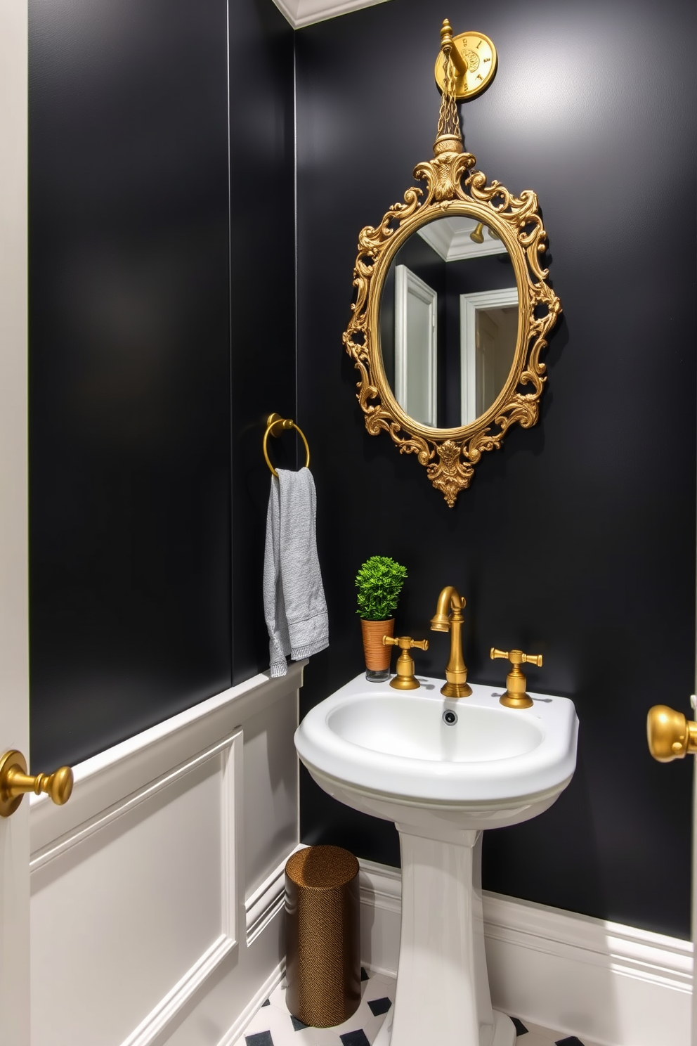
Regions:
[[[484,954],[482,833],[426,839],[397,824],[401,936],[395,1004],[375,1046],[513,1046],[515,1028],[491,1008]]]

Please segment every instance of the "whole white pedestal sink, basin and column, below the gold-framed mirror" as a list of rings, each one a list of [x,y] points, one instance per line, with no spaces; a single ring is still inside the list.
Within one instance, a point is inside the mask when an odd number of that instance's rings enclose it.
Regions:
[[[443,698],[442,680],[419,679],[398,691],[356,677],[308,712],[296,748],[325,792],[399,832],[397,992],[376,1046],[513,1046],[489,996],[482,829],[541,814],[568,784],[576,711],[535,693],[532,708],[504,708],[477,684]]]

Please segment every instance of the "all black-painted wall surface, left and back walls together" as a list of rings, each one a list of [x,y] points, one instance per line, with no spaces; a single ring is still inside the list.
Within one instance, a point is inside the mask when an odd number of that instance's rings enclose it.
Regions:
[[[368,555],[408,564],[416,636],[457,584],[470,678],[502,682],[492,643],[541,652],[533,685],[581,720],[572,786],[487,836],[485,885],[688,936],[692,768],[651,761],[644,719],[694,685],[693,5],[502,0],[479,23],[501,65],[466,144],[538,192],[564,316],[540,425],[455,509],[367,435],[341,346],[357,232],[431,155],[443,13],[392,0],[295,35],[297,357],[294,35],[271,0],[231,2],[228,109],[225,15],[31,0],[32,763],[266,666],[259,448],[265,414],[296,411],[297,367],[331,624],[303,706],[362,668]],[[647,54],[666,36],[661,79]],[[274,452],[293,463],[295,445]],[[419,667],[441,675],[447,636],[428,636]],[[302,783],[306,841],[398,863],[390,824]]]

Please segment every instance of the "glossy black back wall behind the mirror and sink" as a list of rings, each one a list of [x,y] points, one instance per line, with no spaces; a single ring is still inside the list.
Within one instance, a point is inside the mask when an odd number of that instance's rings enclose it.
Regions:
[[[421,672],[443,675],[448,636],[428,619],[459,586],[470,678],[504,682],[491,645],[541,653],[530,686],[573,698],[581,724],[557,803],[485,837],[485,887],[687,937],[692,766],[650,758],[645,718],[658,701],[687,710],[694,686],[694,4],[502,0],[477,17],[499,66],[461,110],[466,145],[490,179],[538,194],[564,312],[539,425],[486,454],[454,509],[365,431],[341,343],[358,231],[432,155],[445,14],[471,24],[463,0],[393,0],[297,33],[299,412],[331,634],[303,707],[362,669],[353,577],[368,555],[409,568],[397,629],[429,637]],[[658,82],[659,40],[675,50]],[[398,863],[391,824],[307,775],[302,831]]]

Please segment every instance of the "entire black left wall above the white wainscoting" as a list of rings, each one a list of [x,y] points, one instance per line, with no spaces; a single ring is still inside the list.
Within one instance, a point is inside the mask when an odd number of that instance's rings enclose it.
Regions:
[[[269,664],[262,617],[249,642],[261,563],[250,506],[261,511],[263,481],[265,510],[262,418],[295,397],[293,32],[271,0],[231,0],[228,106],[227,6],[29,5],[43,769]]]

